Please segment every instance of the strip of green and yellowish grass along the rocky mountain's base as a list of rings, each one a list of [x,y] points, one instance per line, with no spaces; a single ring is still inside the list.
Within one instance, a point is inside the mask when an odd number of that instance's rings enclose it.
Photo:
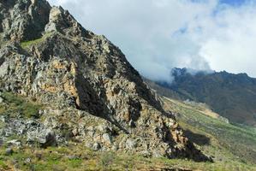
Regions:
[[[0,148],[0,170],[164,170],[183,168],[187,170],[227,170],[253,171],[255,167],[242,162],[193,162],[169,160],[166,158],[146,158],[124,153],[95,152],[83,144],[70,144],[67,147],[51,147],[45,150],[24,147],[14,149],[12,156],[5,156]],[[64,152],[63,152],[64,151]],[[77,156],[70,159],[68,156]],[[30,162],[26,162],[27,158]]]

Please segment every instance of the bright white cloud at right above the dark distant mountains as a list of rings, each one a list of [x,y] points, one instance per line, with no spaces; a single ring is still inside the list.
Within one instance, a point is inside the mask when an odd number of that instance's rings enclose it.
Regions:
[[[211,32],[201,42],[199,54],[216,70],[246,72],[256,77],[256,9],[254,5],[227,8],[212,20],[213,26],[203,24]]]

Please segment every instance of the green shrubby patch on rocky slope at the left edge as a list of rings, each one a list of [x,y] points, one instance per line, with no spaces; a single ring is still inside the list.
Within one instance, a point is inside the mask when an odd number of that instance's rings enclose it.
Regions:
[[[4,103],[0,103],[0,115],[15,117],[19,114],[27,118],[39,118],[39,109],[43,108],[42,105],[10,92],[3,92],[1,97],[3,97]]]

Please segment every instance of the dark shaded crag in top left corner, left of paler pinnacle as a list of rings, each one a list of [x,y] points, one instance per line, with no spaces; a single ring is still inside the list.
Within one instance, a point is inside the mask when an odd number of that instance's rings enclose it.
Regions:
[[[39,38],[49,21],[51,6],[45,0],[3,0],[0,3],[3,38]]]

